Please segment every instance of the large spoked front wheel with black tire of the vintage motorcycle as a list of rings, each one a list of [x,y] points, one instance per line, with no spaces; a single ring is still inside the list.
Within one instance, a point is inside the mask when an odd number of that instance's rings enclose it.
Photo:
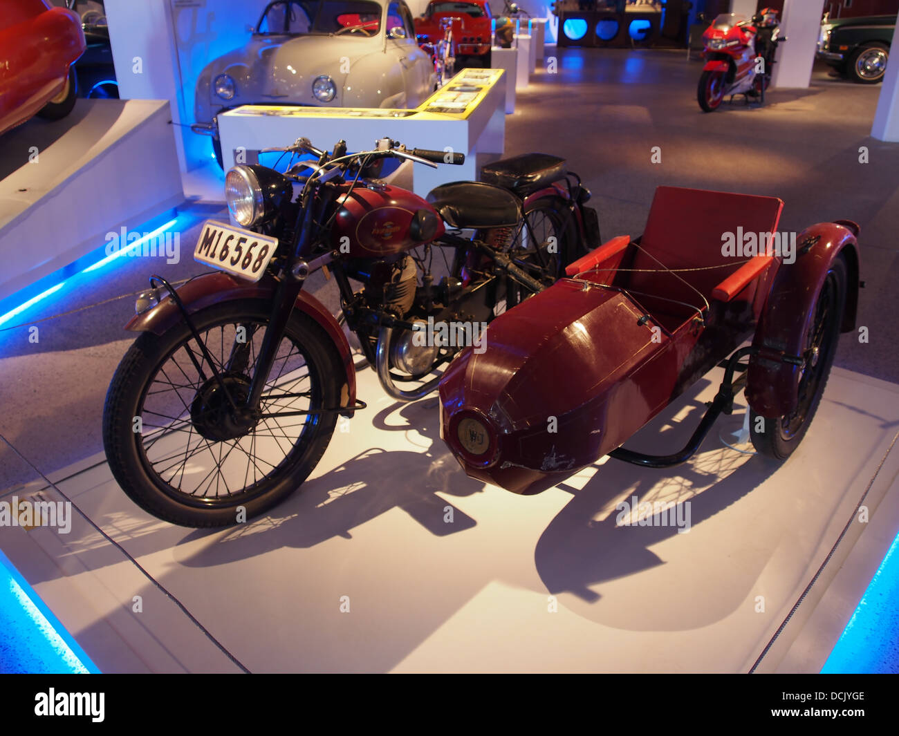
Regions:
[[[243,300],[210,306],[194,315],[197,330],[232,394],[249,383],[250,359],[258,354],[270,311],[263,302]],[[237,353],[232,351],[240,326],[248,335],[245,366],[236,366]],[[206,368],[205,381],[184,350],[188,342],[200,367]],[[312,411],[338,405],[343,365],[311,317],[296,311],[291,315],[278,355],[272,374],[279,373],[264,389],[263,411]],[[298,382],[308,388],[294,387]],[[232,439],[210,438],[209,426],[220,428],[217,417],[228,413],[221,409],[227,404],[217,386],[182,322],[159,336],[142,333],[112,378],[103,409],[106,457],[122,490],[159,519],[184,527],[224,527],[241,520],[238,507],[245,509],[246,519],[252,519],[296,491],[325,453],[337,421],[334,412],[263,419]],[[304,396],[272,398],[275,389]],[[266,396],[269,401],[264,400]],[[142,426],[137,426],[137,417]],[[232,458],[235,449],[239,452]]]

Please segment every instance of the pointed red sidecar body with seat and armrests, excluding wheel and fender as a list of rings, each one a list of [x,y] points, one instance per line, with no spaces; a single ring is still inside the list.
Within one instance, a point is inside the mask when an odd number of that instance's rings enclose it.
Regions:
[[[466,473],[540,492],[619,448],[751,338],[780,259],[723,244],[737,228],[776,232],[782,207],[659,187],[641,237],[602,245],[576,279],[497,317],[485,349],[463,351],[441,380],[441,437]],[[458,416],[483,417],[489,457],[462,447]]]

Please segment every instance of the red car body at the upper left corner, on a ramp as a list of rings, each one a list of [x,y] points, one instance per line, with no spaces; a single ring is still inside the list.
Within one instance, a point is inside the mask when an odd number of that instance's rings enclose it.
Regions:
[[[85,48],[77,13],[45,0],[0,0],[0,133],[62,93]]]

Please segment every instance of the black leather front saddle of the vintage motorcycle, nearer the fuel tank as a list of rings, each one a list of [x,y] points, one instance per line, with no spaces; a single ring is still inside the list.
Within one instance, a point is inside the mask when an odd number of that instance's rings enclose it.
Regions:
[[[514,227],[519,200],[504,189],[484,182],[451,182],[432,189],[427,200],[451,227]]]

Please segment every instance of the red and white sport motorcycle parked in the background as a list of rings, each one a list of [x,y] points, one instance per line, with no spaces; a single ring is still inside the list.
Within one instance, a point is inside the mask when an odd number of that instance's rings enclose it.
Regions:
[[[717,110],[727,95],[765,102],[775,52],[787,39],[780,36],[773,8],[762,10],[752,23],[739,13],[720,13],[702,34],[706,65],[696,94],[703,111]]]

